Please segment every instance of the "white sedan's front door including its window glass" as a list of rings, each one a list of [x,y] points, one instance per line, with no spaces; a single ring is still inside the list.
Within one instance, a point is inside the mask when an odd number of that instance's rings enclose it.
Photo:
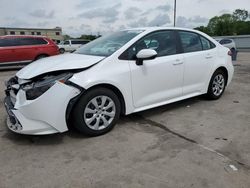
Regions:
[[[157,57],[135,63],[135,55],[142,49],[154,49]],[[134,106],[146,107],[182,95],[183,55],[178,54],[175,31],[151,33],[128,50]]]

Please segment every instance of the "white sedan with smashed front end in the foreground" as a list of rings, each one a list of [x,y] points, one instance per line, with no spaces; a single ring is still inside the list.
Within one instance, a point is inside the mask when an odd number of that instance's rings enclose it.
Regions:
[[[107,43],[120,46],[110,51]],[[62,133],[74,126],[98,136],[120,114],[202,94],[218,99],[233,72],[229,49],[199,31],[118,31],[17,72],[6,82],[7,125],[21,134]]]

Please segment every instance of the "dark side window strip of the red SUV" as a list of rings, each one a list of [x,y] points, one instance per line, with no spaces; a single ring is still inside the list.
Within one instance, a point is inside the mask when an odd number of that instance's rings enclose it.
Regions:
[[[48,44],[43,38],[5,38],[0,39],[0,47]]]

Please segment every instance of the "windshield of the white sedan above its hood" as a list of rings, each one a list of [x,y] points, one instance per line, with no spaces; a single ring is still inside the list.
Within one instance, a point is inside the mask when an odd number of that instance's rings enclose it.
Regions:
[[[100,37],[81,48],[78,48],[74,53],[95,56],[110,56],[121,48],[132,38],[143,32],[142,30],[127,30],[115,32],[103,37]]]

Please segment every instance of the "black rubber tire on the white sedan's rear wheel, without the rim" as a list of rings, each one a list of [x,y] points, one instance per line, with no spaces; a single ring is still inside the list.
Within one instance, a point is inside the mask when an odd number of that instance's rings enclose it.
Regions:
[[[220,89],[220,92],[218,92],[217,94],[215,94],[216,92],[213,90],[215,86],[214,84],[214,80],[216,77],[218,77],[219,75],[221,75],[223,77],[223,80],[224,80],[224,84],[223,84],[223,87]],[[223,70],[216,70],[213,74],[213,76],[211,77],[211,80],[209,82],[209,86],[208,86],[208,91],[207,91],[207,98],[210,99],[210,100],[217,100],[219,99],[222,94],[224,93],[225,91],[225,88],[226,88],[226,84],[227,84],[227,77],[226,77],[226,74]]]

